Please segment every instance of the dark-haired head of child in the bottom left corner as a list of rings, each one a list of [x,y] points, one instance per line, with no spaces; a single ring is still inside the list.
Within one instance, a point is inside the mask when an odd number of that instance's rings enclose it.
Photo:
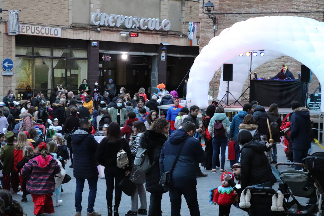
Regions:
[[[12,199],[12,195],[8,190],[0,190],[0,215],[23,216],[27,215],[22,210],[21,205]]]

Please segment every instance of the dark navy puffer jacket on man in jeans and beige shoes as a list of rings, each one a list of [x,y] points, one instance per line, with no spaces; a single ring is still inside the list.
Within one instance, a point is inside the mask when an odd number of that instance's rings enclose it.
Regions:
[[[98,142],[86,129],[79,127],[71,134],[73,148],[73,176],[75,178],[98,177],[98,163],[95,153]]]

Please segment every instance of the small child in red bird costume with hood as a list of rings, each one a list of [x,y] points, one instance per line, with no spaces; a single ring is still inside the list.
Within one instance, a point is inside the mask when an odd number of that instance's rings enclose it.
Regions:
[[[231,205],[234,204],[237,200],[237,193],[231,186],[229,186],[225,178],[223,178],[224,173],[221,176],[222,185],[216,189],[213,199],[214,205],[219,205],[218,216],[229,216]],[[234,180],[232,173],[228,173],[228,175],[232,180]]]

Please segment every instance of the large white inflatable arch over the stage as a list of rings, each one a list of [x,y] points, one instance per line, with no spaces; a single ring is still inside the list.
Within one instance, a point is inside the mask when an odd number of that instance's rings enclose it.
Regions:
[[[252,57],[252,71],[269,60],[290,56],[313,71],[324,92],[324,23],[305,17],[255,17],[224,29],[202,49],[189,74],[188,106],[206,108],[209,105],[209,83],[223,63],[233,63],[229,90],[238,98],[249,75],[249,57],[238,55],[254,50],[265,50],[265,55]],[[217,99],[225,93],[226,82],[220,81]],[[324,112],[324,103],[321,111]]]

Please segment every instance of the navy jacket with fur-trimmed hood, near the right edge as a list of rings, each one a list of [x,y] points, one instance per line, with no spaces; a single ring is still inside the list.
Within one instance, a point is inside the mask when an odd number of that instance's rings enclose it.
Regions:
[[[309,118],[309,109],[299,107],[291,116],[290,140],[294,149],[309,149],[313,138]]]

